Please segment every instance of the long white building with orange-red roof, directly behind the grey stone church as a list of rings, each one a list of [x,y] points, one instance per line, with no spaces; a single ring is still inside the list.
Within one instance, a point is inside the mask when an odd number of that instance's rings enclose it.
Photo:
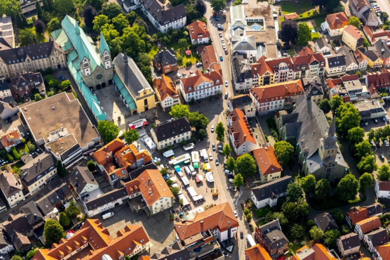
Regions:
[[[268,114],[291,107],[300,97],[305,96],[305,90],[302,81],[298,79],[252,88],[250,95],[256,111]]]

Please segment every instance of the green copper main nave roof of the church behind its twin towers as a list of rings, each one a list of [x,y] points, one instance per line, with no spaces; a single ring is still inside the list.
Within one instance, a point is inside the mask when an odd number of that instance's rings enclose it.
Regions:
[[[62,20],[61,26],[77,51],[78,58],[83,60],[85,57],[90,60],[92,71],[95,70],[96,66],[100,66],[100,57],[96,53],[95,47],[88,40],[84,31],[78,26],[76,20],[67,15]]]

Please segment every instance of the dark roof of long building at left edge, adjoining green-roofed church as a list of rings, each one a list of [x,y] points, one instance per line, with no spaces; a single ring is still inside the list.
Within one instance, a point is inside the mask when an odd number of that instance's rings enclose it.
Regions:
[[[49,57],[50,53],[55,47],[58,49],[58,51],[62,51],[58,44],[54,41],[3,50],[0,51],[0,60],[3,60],[7,64],[14,64],[24,61],[27,55],[32,60],[43,59]]]

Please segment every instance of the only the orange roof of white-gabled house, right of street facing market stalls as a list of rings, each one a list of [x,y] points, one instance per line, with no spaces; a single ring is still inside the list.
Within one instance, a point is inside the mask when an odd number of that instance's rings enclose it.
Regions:
[[[252,129],[248,123],[247,117],[244,115],[244,112],[235,108],[232,113],[230,113],[230,118],[232,120],[232,126],[229,128],[229,131],[233,134],[234,145],[236,148],[244,144],[245,141],[257,144],[256,140],[254,140]]]

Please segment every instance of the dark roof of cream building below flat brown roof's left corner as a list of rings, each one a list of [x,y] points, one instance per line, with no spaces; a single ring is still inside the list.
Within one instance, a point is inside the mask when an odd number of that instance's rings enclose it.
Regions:
[[[44,152],[20,168],[20,179],[31,185],[56,168],[57,160],[52,153]]]

